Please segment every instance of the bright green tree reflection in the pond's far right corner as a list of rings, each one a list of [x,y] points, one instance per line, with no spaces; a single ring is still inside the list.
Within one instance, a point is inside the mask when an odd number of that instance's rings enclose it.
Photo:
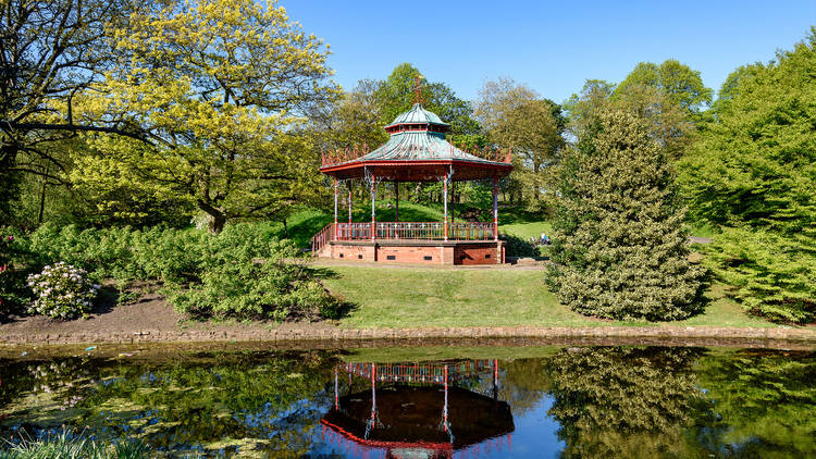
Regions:
[[[728,457],[816,457],[816,353],[741,351],[703,359],[715,421],[698,442]]]

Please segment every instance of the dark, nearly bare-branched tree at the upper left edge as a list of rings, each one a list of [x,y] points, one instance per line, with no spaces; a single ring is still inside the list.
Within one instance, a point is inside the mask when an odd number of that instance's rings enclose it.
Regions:
[[[131,0],[5,0],[0,3],[0,219],[8,221],[22,174],[62,182],[54,141],[81,132],[141,138],[109,116],[84,123],[73,98],[101,79],[114,53],[109,30],[136,9]]]

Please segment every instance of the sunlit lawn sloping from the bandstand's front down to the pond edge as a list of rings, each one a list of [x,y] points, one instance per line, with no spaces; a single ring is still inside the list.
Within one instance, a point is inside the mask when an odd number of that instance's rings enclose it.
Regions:
[[[656,326],[586,318],[561,306],[541,270],[375,268],[318,264],[326,287],[354,305],[349,328],[449,326]],[[697,317],[675,326],[776,326],[746,315],[720,287]]]

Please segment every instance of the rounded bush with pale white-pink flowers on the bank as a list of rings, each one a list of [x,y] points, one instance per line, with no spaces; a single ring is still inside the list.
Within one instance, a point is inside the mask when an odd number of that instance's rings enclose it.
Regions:
[[[60,319],[87,314],[99,290],[99,285],[91,284],[85,270],[65,262],[29,275],[28,286],[35,295],[28,312]]]

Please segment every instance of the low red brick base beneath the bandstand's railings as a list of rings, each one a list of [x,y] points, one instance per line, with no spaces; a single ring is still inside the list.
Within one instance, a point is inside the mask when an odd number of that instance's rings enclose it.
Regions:
[[[502,240],[332,240],[320,257],[388,263],[499,264],[505,261],[505,247]]]

